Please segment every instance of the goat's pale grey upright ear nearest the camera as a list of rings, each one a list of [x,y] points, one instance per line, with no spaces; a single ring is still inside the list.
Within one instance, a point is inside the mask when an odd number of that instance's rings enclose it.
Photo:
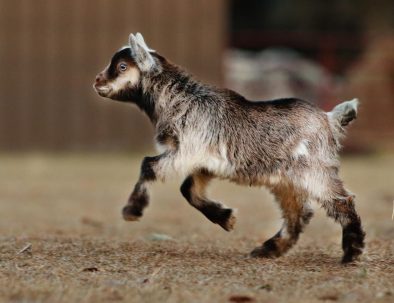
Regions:
[[[152,50],[148,48],[142,35],[140,33],[136,36],[130,34],[129,44],[131,56],[135,60],[138,68],[144,72],[154,69],[156,63],[152,55],[149,53]]]

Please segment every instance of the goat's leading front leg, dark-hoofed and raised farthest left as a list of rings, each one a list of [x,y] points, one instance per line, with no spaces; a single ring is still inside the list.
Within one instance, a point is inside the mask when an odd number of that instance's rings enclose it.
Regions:
[[[162,154],[155,157],[145,157],[141,164],[140,177],[134,186],[129,200],[123,207],[123,218],[126,221],[137,221],[142,217],[143,210],[149,204],[149,193],[147,185],[157,178],[163,179],[165,173],[162,171],[161,162],[169,160],[168,155]]]

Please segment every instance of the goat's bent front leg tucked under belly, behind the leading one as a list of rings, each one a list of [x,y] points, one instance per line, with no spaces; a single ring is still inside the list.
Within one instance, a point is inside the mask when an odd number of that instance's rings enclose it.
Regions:
[[[205,197],[205,189],[212,178],[213,176],[206,172],[198,172],[188,176],[181,186],[182,195],[210,221],[231,231],[236,221],[234,210]]]

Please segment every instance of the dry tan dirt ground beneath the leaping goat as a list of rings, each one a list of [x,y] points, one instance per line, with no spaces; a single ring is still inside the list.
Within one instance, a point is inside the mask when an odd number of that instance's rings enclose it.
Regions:
[[[367,232],[342,266],[341,230],[316,215],[286,256],[248,253],[280,227],[264,189],[214,182],[236,229],[208,222],[156,184],[140,222],[120,211],[142,156],[0,155],[0,302],[394,302],[394,155],[345,158]]]

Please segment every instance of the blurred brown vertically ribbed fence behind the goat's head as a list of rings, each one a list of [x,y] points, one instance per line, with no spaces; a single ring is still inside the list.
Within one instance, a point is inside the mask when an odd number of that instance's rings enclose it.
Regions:
[[[148,44],[221,82],[225,0],[1,0],[0,149],[143,149],[150,126],[92,83],[141,31]]]

